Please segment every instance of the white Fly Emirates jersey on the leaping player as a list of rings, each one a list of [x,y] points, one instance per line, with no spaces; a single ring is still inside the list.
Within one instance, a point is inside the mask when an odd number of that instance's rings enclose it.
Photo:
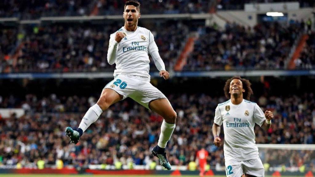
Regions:
[[[122,27],[111,34],[110,46],[114,42],[117,32],[123,32],[126,36],[118,43],[114,76],[125,74],[150,78],[150,59],[148,54],[158,51],[152,32],[139,26],[136,31],[127,31]]]

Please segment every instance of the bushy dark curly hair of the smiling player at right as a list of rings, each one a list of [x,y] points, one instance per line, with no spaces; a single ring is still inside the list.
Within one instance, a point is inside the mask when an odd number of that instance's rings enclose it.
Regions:
[[[233,79],[239,79],[242,84],[243,84],[243,89],[245,90],[245,92],[243,93],[243,98],[246,99],[246,100],[249,100],[250,98],[250,95],[253,94],[253,90],[252,88],[250,88],[250,85],[251,83],[249,82],[249,80],[247,79],[243,79],[241,78],[240,76],[234,76],[230,79],[228,79],[226,82],[225,82],[225,86],[223,88],[224,90],[224,94],[225,94],[225,97],[227,99],[230,99],[231,98],[231,95],[230,95],[230,83],[232,82]]]

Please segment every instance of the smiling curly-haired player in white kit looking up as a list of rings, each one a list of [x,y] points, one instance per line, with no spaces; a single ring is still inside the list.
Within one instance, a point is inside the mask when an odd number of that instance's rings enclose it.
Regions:
[[[226,176],[265,176],[264,166],[258,156],[255,144],[254,126],[257,123],[264,130],[271,125],[273,114],[265,113],[260,107],[249,101],[253,91],[251,83],[241,77],[228,79],[224,86],[226,102],[218,104],[212,127],[215,146],[221,145],[220,126],[224,130],[224,159]],[[243,99],[243,98],[246,98]]]

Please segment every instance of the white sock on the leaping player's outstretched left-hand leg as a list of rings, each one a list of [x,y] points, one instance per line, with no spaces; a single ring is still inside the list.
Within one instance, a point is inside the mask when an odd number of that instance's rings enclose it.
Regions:
[[[94,123],[102,113],[102,109],[98,104],[93,105],[89,108],[89,110],[83,116],[83,119],[79,125],[79,128],[83,130],[83,132],[92,124]]]

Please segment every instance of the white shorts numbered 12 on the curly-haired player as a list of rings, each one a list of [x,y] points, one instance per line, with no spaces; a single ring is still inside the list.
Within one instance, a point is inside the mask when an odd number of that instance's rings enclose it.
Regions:
[[[243,174],[250,174],[257,177],[265,176],[265,169],[261,159],[238,161],[229,160],[225,162],[225,172],[228,177],[241,177]]]

